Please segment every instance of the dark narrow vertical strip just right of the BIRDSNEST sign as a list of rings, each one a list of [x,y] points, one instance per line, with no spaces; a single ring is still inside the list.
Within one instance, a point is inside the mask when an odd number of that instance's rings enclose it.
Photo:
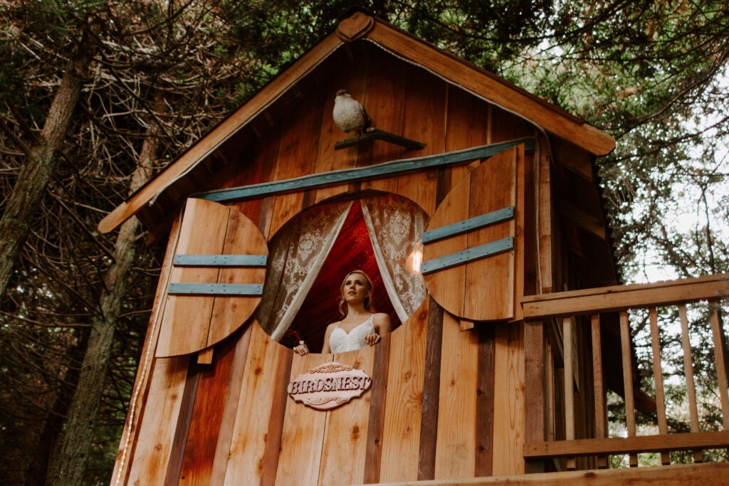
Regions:
[[[365,452],[364,478],[362,479],[364,484],[380,482],[391,337],[392,334],[386,335],[375,346],[372,388],[370,388],[370,416],[367,419],[367,451]]]

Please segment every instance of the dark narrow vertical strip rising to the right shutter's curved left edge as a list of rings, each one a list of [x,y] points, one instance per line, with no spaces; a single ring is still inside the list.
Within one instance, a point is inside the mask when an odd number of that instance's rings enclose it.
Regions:
[[[421,412],[418,479],[433,479],[435,474],[436,440],[440,415],[440,362],[443,340],[443,307],[428,298],[428,329],[425,345],[425,376]]]

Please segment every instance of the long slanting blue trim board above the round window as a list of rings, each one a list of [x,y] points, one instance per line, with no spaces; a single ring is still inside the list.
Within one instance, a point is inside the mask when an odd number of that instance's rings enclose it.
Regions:
[[[412,159],[393,160],[378,165],[359,167],[351,169],[340,169],[308,176],[285,179],[283,181],[266,182],[264,184],[252,184],[250,186],[232,187],[210,192],[200,192],[190,197],[227,203],[235,200],[249,199],[253,197],[264,197],[290,191],[303,191],[325,187],[332,184],[344,184],[347,182],[362,181],[365,179],[378,179],[411,171],[422,171],[429,168],[439,168],[446,165],[458,164],[469,160],[484,159],[499,152],[509,149],[512,146],[524,145],[525,150],[534,149],[534,138],[518,138],[501,142],[499,144],[488,144],[473,147],[471,149],[459,150],[457,152],[446,152],[444,154],[427,155],[426,157],[415,157]]]

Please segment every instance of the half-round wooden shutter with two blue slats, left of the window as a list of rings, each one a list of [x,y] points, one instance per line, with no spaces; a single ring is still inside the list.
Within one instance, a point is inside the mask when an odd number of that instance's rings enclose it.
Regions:
[[[261,300],[267,256],[265,238],[236,208],[187,200],[157,357],[197,353],[248,321]]]

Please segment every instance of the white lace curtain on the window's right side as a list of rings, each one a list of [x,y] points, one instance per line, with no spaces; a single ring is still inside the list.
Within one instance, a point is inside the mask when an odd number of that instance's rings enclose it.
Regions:
[[[363,199],[361,203],[387,294],[400,321],[405,322],[426,297],[419,265],[413,268],[412,264],[422,248],[426,215],[404,197],[387,195]]]

